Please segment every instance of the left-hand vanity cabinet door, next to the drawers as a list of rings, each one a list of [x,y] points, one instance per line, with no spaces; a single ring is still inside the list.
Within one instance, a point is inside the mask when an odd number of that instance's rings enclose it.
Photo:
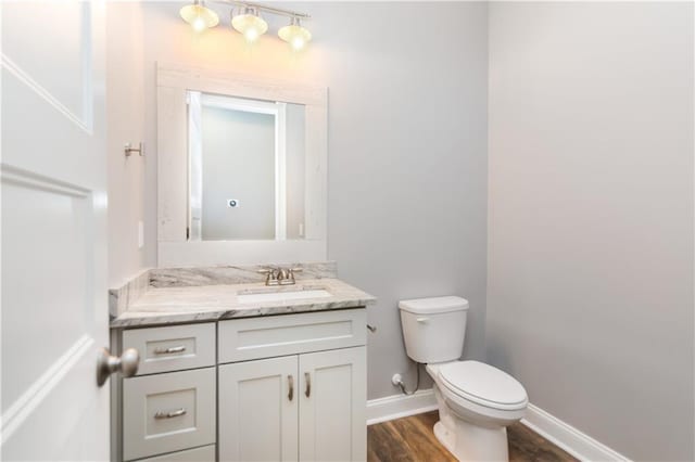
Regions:
[[[219,367],[219,460],[296,461],[298,357]]]

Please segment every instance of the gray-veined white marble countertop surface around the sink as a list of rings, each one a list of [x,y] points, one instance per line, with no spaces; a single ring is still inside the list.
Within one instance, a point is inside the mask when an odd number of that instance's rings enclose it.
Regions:
[[[292,300],[245,303],[241,293],[295,292],[323,288],[330,296]],[[305,279],[296,285],[267,287],[264,283],[149,287],[127,310],[111,321],[112,329],[217,321],[294,312],[363,307],[376,298],[338,279]]]

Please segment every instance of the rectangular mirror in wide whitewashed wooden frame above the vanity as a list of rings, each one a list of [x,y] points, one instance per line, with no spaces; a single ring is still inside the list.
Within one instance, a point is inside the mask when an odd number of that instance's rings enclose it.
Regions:
[[[159,65],[159,265],[325,260],[326,132],[326,88]]]

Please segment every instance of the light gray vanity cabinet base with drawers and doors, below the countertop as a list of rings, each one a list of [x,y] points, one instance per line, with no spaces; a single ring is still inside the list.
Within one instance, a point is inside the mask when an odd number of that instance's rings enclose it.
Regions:
[[[366,310],[126,329],[124,461],[362,461]],[[216,347],[216,348],[215,348]]]

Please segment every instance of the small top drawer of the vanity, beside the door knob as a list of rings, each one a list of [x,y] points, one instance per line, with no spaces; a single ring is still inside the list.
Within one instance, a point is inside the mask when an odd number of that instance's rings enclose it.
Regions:
[[[215,324],[127,330],[126,348],[140,351],[138,375],[214,365]]]

